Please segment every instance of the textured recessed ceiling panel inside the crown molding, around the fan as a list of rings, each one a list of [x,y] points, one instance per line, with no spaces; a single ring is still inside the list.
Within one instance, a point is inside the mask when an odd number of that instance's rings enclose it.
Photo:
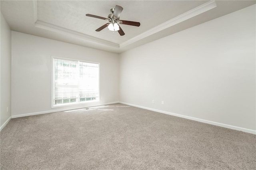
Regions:
[[[114,43],[122,43],[146,30],[166,22],[206,1],[37,1],[38,20],[82,34],[94,36]],[[110,9],[116,5],[124,10],[121,20],[140,22],[140,27],[120,24],[125,32],[120,36],[108,28],[100,32],[95,30],[108,21],[91,18],[93,14],[108,18]]]

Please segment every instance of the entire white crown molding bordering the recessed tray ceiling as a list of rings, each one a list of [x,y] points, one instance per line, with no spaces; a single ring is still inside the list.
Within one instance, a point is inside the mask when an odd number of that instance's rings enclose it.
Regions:
[[[63,33],[63,34],[66,34],[66,35],[71,35],[71,36],[75,36],[75,37],[78,37],[78,38],[82,38],[84,40],[87,40],[87,41],[91,41],[91,42],[95,42],[95,43],[100,43],[102,45],[107,45],[107,46],[110,46],[110,47],[115,47],[115,48],[122,48],[122,47],[125,47],[127,45],[130,45],[134,42],[137,42],[139,40],[142,40],[143,38],[146,38],[148,36],[151,36],[152,34],[155,34],[157,32],[160,32],[166,28],[169,28],[171,26],[174,26],[176,24],[179,24],[180,22],[183,22],[185,20],[188,20],[194,16],[197,16],[199,14],[202,14],[208,10],[211,10],[213,8],[216,8],[217,5],[216,5],[216,2],[214,0],[210,0],[209,2],[206,2],[192,10],[189,10],[188,12],[185,12],[184,14],[181,14],[175,18],[172,18],[171,20],[168,20],[166,22],[164,22],[163,24],[160,24],[146,32],[143,32],[142,34],[134,37],[134,38],[131,38],[130,40],[126,41],[126,42],[123,42],[121,44],[118,44],[118,43],[113,43],[113,42],[110,42],[110,41],[107,41],[107,40],[102,40],[100,38],[96,38],[96,37],[93,37],[93,36],[89,36],[89,35],[86,35],[86,34],[82,34],[80,32],[76,32],[76,31],[73,31],[73,30],[69,30],[69,29],[66,29],[66,28],[62,28],[62,27],[59,27],[59,26],[55,26],[55,25],[52,25],[52,24],[49,24],[49,23],[46,23],[46,22],[42,22],[40,20],[38,20],[38,16],[37,16],[37,3],[36,3],[37,0],[33,0],[33,10],[34,10],[34,23],[35,23],[35,26],[37,28],[42,28],[42,29],[45,29],[45,30],[50,30],[50,31],[53,31],[53,32],[59,32],[59,33]]]

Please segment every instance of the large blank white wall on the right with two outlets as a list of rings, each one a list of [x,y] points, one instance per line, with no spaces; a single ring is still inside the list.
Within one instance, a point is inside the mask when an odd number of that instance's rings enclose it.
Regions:
[[[256,130],[255,9],[121,53],[120,101]]]

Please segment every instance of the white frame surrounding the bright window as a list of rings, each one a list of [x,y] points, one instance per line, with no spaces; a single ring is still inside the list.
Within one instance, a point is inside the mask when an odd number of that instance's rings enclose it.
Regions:
[[[79,103],[68,103],[66,105],[57,105],[57,106],[54,106],[54,85],[53,85],[53,82],[54,82],[54,75],[53,75],[53,71],[54,71],[54,59],[66,59],[66,60],[70,60],[70,61],[81,61],[81,62],[86,62],[86,63],[94,63],[94,64],[98,64],[99,65],[99,99],[98,101],[87,101],[87,102],[79,102]],[[81,59],[74,59],[74,58],[65,58],[65,57],[58,57],[58,56],[54,56],[52,55],[51,56],[51,108],[56,108],[56,107],[68,107],[68,106],[76,106],[76,105],[88,105],[90,103],[100,103],[100,63],[98,62],[93,62],[93,61],[86,61],[86,60],[81,60]]]

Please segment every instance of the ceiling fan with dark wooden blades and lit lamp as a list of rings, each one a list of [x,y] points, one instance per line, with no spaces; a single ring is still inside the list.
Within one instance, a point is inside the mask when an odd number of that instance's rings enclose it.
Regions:
[[[134,21],[120,20],[119,16],[120,16],[122,10],[123,10],[122,6],[116,5],[115,8],[110,9],[110,12],[112,14],[109,14],[108,18],[104,18],[104,17],[101,17],[101,16],[92,15],[92,14],[86,14],[86,16],[90,16],[90,17],[93,17],[93,18],[99,18],[99,19],[107,20],[108,22],[110,22],[110,23],[104,24],[103,26],[101,26],[100,28],[98,28],[95,31],[101,31],[104,28],[108,27],[108,29],[110,31],[118,31],[120,36],[123,36],[124,31],[119,26],[119,24],[125,24],[125,25],[137,26],[138,27],[138,26],[140,26],[140,23],[139,22],[134,22]]]

